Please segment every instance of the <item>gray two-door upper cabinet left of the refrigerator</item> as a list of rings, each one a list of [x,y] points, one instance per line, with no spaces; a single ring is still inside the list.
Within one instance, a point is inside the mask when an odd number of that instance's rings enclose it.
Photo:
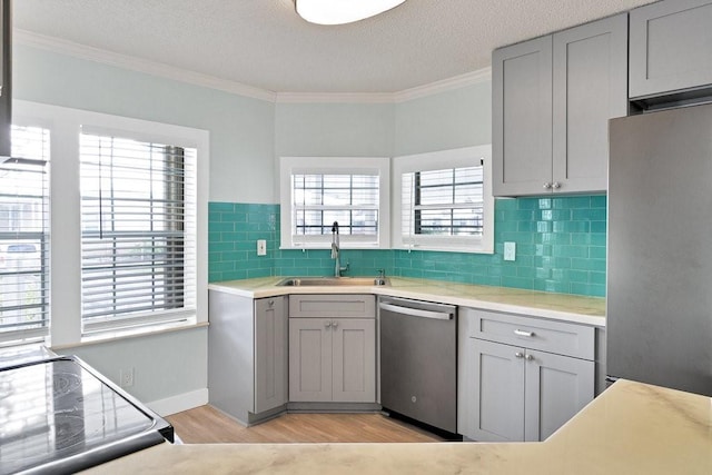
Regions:
[[[627,112],[627,14],[493,53],[495,196],[605,191],[607,121]]]

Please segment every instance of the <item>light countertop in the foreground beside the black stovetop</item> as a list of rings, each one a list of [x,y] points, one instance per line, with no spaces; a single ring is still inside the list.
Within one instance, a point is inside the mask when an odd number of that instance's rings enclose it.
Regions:
[[[166,443],[87,473],[709,475],[712,398],[619,380],[542,443]]]

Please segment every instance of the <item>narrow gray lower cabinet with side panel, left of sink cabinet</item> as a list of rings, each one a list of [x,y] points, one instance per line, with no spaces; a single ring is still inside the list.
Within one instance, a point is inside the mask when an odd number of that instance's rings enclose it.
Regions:
[[[288,396],[286,297],[210,290],[210,404],[249,425],[284,410]]]

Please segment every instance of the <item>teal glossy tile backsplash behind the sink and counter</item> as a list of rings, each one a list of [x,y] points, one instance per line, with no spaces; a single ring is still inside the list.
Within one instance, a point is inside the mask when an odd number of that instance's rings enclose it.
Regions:
[[[257,239],[267,255],[257,256]],[[502,259],[504,243],[516,259]],[[348,250],[354,276],[386,275],[605,296],[606,197],[497,199],[495,254]],[[280,250],[279,206],[209,204],[209,280],[334,273],[329,249]]]

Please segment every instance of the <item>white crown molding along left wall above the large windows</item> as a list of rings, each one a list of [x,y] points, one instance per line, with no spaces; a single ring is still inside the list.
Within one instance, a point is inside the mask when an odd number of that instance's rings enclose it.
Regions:
[[[187,69],[176,68],[174,66],[162,65],[160,62],[149,61],[127,55],[120,55],[107,51],[105,49],[88,47],[72,41],[48,37],[22,29],[16,29],[12,32],[12,40],[17,43],[29,46],[32,48],[43,49],[47,51],[67,55],[79,59],[86,59],[89,61],[100,62],[107,66],[129,69],[137,72],[144,72],[151,76],[172,79],[175,81],[187,82],[194,86],[217,89],[220,91],[236,93],[254,99],[261,99],[270,102],[275,101],[275,92],[273,91],[246,86],[236,81],[219,79]]]

